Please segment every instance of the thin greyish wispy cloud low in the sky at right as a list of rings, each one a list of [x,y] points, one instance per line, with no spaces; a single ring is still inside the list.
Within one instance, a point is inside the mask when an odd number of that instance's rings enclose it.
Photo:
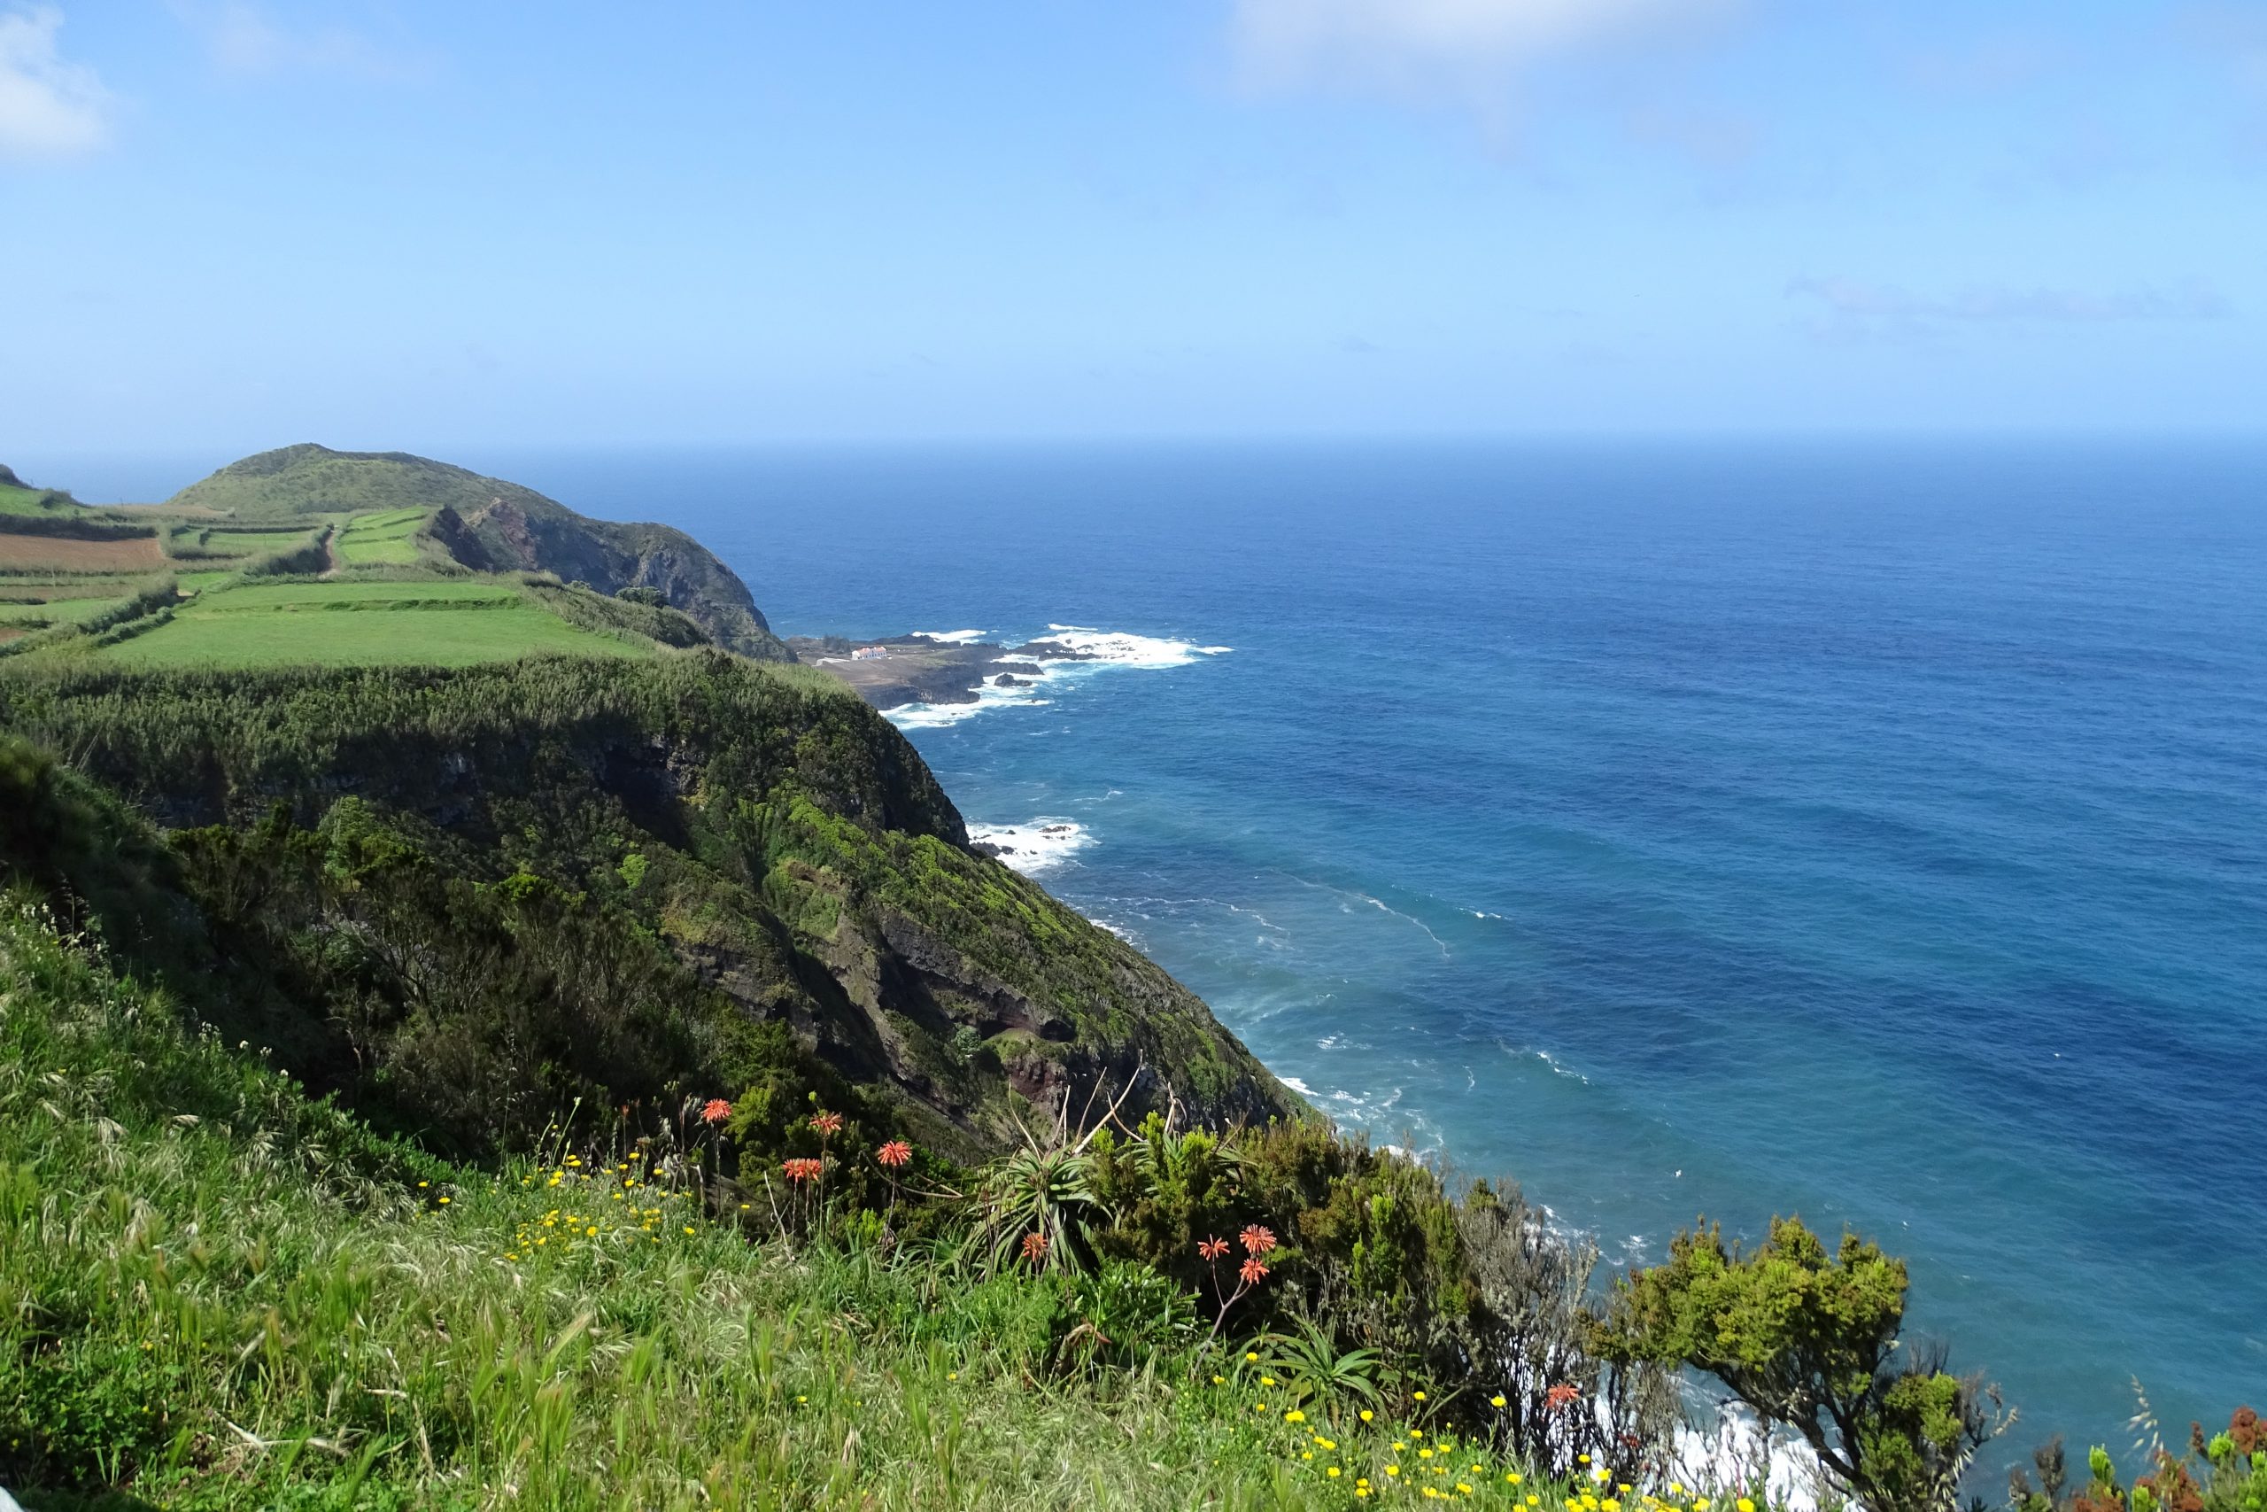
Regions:
[[[1952,295],[1913,295],[1893,283],[1852,279],[1795,279],[1791,297],[1811,301],[1809,331],[1852,340],[1931,335],[1977,324],[2108,324],[2226,320],[2235,306],[2219,290],[2183,281],[2172,288],[2133,286],[2115,292],[2068,288],[1972,286]]]

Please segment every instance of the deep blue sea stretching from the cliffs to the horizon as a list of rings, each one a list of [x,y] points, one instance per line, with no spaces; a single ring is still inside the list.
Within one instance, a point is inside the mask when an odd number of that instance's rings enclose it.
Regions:
[[[2267,1408],[2267,449],[456,460],[782,632],[1183,642],[909,734],[1322,1108],[1610,1263],[1879,1238],[1997,1460]]]

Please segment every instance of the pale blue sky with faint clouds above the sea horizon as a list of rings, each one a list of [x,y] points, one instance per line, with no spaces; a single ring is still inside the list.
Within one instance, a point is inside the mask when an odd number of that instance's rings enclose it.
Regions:
[[[0,0],[0,458],[2267,417],[2256,0]]]

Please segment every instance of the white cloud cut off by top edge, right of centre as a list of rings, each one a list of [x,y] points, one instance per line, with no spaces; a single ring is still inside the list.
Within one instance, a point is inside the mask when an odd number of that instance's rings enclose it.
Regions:
[[[1245,63],[1270,84],[1471,93],[1557,52],[1675,34],[1737,0],[1236,0]]]

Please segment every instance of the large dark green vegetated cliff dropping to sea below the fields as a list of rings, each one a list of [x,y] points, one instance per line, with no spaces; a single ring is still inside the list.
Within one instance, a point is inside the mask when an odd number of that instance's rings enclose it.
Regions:
[[[1158,966],[973,855],[918,753],[818,673],[25,666],[0,725],[177,830],[202,923],[125,909],[120,948],[186,991],[236,972],[227,1011],[295,1070],[451,1147],[574,1095],[771,1088],[787,1120],[821,1072],[966,1154],[1018,1099],[1129,1081],[1208,1122],[1301,1108]]]

